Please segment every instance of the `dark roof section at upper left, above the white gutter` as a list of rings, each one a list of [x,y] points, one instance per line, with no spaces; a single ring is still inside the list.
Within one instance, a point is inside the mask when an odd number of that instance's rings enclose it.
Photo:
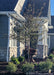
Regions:
[[[0,11],[14,11],[18,0],[0,0]]]

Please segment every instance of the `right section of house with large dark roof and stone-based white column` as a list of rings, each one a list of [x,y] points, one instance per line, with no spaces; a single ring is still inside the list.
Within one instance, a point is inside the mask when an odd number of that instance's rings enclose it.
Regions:
[[[31,6],[31,7],[29,7]],[[32,8],[32,10],[31,10]],[[30,12],[28,12],[31,10]],[[51,25],[51,11],[50,11],[50,0],[28,0],[24,13],[27,15],[32,14],[34,20],[38,18],[40,23],[38,34],[38,45],[37,45],[37,58],[45,58],[48,56],[48,31]],[[24,14],[23,13],[23,14]],[[42,39],[42,40],[41,40]]]

